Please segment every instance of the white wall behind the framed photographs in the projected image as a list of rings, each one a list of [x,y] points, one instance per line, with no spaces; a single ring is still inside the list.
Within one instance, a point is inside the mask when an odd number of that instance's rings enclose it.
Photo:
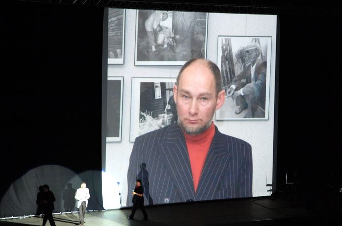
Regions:
[[[121,202],[126,206],[127,170],[133,143],[129,142],[131,77],[176,77],[181,66],[134,66],[136,10],[126,9],[125,59],[123,65],[108,65],[108,76],[123,76],[122,141],[107,142],[106,174],[119,182]],[[270,36],[272,37],[270,100],[268,120],[215,121],[220,132],[246,140],[253,151],[253,195],[270,195],[266,187],[272,184],[275,56],[277,16],[209,13],[207,59],[217,63],[217,36]],[[105,186],[105,184],[104,184]],[[108,190],[108,188],[103,188]],[[104,193],[104,199],[110,199]]]

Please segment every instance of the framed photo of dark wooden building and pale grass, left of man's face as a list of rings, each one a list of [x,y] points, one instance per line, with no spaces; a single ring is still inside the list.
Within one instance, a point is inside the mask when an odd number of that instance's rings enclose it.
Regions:
[[[177,123],[176,78],[132,77],[130,142],[137,136]]]

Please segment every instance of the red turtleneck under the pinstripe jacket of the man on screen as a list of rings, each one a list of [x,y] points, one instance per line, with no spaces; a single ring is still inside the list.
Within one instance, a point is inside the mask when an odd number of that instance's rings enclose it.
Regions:
[[[215,134],[214,123],[208,130],[198,135],[189,135],[184,133],[187,143],[190,165],[192,170],[193,187],[197,190],[199,179],[201,178],[204,162],[209,152],[210,144]]]

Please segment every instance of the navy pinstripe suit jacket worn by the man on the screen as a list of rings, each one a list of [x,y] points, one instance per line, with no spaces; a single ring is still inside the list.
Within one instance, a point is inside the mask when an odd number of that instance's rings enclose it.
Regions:
[[[252,197],[252,148],[241,139],[225,135],[215,126],[201,178],[194,191],[192,171],[184,134],[178,125],[137,137],[129,159],[127,206],[132,206],[131,189],[146,163],[149,190],[145,204]],[[146,194],[146,192],[149,192]]]

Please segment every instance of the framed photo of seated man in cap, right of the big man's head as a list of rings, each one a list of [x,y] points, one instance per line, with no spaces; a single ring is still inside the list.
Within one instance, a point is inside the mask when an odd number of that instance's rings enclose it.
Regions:
[[[226,100],[215,120],[268,120],[271,43],[271,37],[218,36]]]

